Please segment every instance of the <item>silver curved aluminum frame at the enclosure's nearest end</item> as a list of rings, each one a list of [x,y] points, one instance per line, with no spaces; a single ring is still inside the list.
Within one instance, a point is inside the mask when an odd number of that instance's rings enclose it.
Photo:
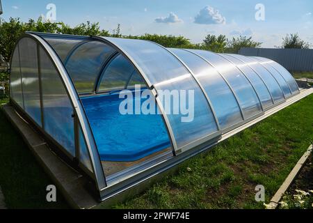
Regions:
[[[70,75],[68,75],[67,70],[64,68],[61,59],[58,57],[54,49],[52,49],[52,47],[42,37],[35,35],[35,33],[26,33],[24,34],[24,36],[19,38],[19,40],[21,40],[22,38],[33,39],[35,43],[40,45],[40,47],[42,47],[42,49],[45,50],[47,56],[49,56],[49,59],[54,64],[54,67],[56,68],[56,71],[58,72],[58,75],[61,81],[63,82],[63,85],[65,86],[65,91],[67,91],[69,100],[72,103],[74,115],[77,117],[79,125],[81,127],[81,131],[83,132],[83,137],[85,139],[86,147],[88,148],[88,153],[90,156],[90,163],[91,166],[93,167],[95,184],[97,190],[99,190],[100,192],[102,188],[106,187],[104,171],[102,169],[102,164],[99,158],[99,153],[97,151],[97,146],[95,144],[95,139],[93,137],[93,132],[90,128],[90,124],[86,116],[85,110],[83,109],[83,105],[79,98],[79,94],[77,93],[74,87]],[[19,40],[17,41],[16,45],[19,43]]]

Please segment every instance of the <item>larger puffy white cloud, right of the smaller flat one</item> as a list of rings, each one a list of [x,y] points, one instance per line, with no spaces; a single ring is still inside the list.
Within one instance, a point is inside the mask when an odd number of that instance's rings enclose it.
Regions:
[[[220,12],[211,6],[205,6],[195,16],[197,24],[226,24],[226,18]]]

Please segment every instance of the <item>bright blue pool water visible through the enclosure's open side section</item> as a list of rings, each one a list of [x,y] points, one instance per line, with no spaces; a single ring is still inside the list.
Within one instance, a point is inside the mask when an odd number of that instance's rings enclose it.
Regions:
[[[118,93],[81,100],[102,161],[136,161],[170,147],[160,115],[120,114]],[[135,98],[134,105],[136,100],[141,99]]]

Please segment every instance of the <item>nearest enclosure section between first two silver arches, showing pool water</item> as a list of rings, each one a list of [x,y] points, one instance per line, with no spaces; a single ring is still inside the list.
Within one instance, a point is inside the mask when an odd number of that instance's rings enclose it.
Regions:
[[[123,172],[127,176],[127,169],[172,151],[159,110],[152,107],[153,114],[141,115],[136,109],[136,105],[141,109],[146,98],[155,104],[154,95],[147,93],[141,74],[122,52],[95,38],[38,35],[45,38],[62,59],[79,92],[107,183],[113,182],[113,175]],[[67,43],[70,47],[63,48]],[[121,95],[124,96],[121,98]],[[120,105],[129,95],[131,100],[126,110],[134,114],[125,115]],[[81,160],[86,160],[86,155],[79,155]]]

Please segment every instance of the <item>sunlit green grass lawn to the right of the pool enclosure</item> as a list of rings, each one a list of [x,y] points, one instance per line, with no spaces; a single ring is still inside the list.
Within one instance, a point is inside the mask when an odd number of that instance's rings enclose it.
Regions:
[[[313,141],[313,95],[184,162],[143,194],[115,208],[264,208]]]

